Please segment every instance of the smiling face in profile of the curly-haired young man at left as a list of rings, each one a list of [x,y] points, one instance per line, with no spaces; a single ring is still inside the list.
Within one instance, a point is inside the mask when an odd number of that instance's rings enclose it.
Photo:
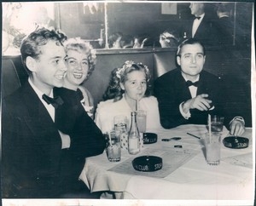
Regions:
[[[32,71],[32,82],[45,94],[54,87],[62,87],[67,72],[66,52],[63,46],[50,40],[40,48],[38,60],[26,58],[26,66]]]

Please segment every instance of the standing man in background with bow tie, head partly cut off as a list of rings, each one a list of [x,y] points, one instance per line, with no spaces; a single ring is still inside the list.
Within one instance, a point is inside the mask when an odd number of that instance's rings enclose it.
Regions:
[[[186,38],[194,37],[204,45],[218,43],[216,26],[212,23],[212,17],[205,12],[205,3],[190,3],[189,8],[195,18],[183,26]]]

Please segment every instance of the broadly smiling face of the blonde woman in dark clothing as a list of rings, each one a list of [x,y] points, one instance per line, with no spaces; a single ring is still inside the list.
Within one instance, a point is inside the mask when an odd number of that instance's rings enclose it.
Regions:
[[[69,49],[67,51],[67,76],[65,87],[76,90],[84,82],[89,70],[88,55]]]

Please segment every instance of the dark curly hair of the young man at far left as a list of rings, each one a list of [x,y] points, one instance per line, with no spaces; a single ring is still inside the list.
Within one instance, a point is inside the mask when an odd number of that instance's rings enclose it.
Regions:
[[[27,72],[30,71],[26,67],[26,57],[31,56],[38,60],[39,55],[42,54],[41,46],[44,46],[49,41],[55,41],[56,45],[63,46],[66,40],[67,36],[62,31],[48,30],[46,28],[32,31],[32,33],[22,40],[20,45],[22,62]]]

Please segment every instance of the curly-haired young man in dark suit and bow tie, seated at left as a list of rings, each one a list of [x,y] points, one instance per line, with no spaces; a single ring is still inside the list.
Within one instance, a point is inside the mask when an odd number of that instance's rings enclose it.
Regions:
[[[56,97],[53,89],[62,86],[67,72],[62,44],[66,39],[60,31],[43,28],[21,43],[20,53],[29,78],[3,100],[3,197],[90,193],[79,175],[85,157],[103,152],[102,132],[86,112],[71,120],[67,133],[55,123],[61,106],[67,110],[73,106]]]

